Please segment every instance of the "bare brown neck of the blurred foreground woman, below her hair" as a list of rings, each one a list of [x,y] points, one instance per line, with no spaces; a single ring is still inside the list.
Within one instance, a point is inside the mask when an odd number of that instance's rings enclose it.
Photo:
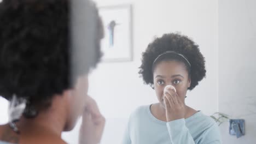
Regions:
[[[61,137],[67,119],[65,105],[63,105],[61,99],[60,96],[54,97],[51,107],[47,110],[40,111],[35,118],[21,117],[20,121],[17,123],[20,132]]]

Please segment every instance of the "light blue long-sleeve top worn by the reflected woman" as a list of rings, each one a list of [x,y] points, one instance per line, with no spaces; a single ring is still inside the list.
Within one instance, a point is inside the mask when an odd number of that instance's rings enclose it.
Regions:
[[[164,122],[141,106],[130,116],[123,144],[219,144],[221,136],[216,122],[201,111],[189,118]]]

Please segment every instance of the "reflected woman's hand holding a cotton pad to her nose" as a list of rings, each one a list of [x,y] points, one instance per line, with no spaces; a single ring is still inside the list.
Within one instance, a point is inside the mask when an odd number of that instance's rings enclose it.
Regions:
[[[173,88],[164,92],[164,103],[167,122],[185,117],[185,104]]]

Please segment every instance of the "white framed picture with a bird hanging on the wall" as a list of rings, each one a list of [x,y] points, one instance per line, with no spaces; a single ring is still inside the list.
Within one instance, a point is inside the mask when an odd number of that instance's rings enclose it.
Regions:
[[[132,6],[112,5],[99,8],[104,38],[103,62],[132,61]]]

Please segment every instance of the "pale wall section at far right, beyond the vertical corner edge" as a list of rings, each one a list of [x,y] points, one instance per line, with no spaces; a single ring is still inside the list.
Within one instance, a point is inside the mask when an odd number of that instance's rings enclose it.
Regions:
[[[229,136],[221,125],[223,143],[256,141],[256,1],[219,1],[219,111],[246,121],[246,135]]]

